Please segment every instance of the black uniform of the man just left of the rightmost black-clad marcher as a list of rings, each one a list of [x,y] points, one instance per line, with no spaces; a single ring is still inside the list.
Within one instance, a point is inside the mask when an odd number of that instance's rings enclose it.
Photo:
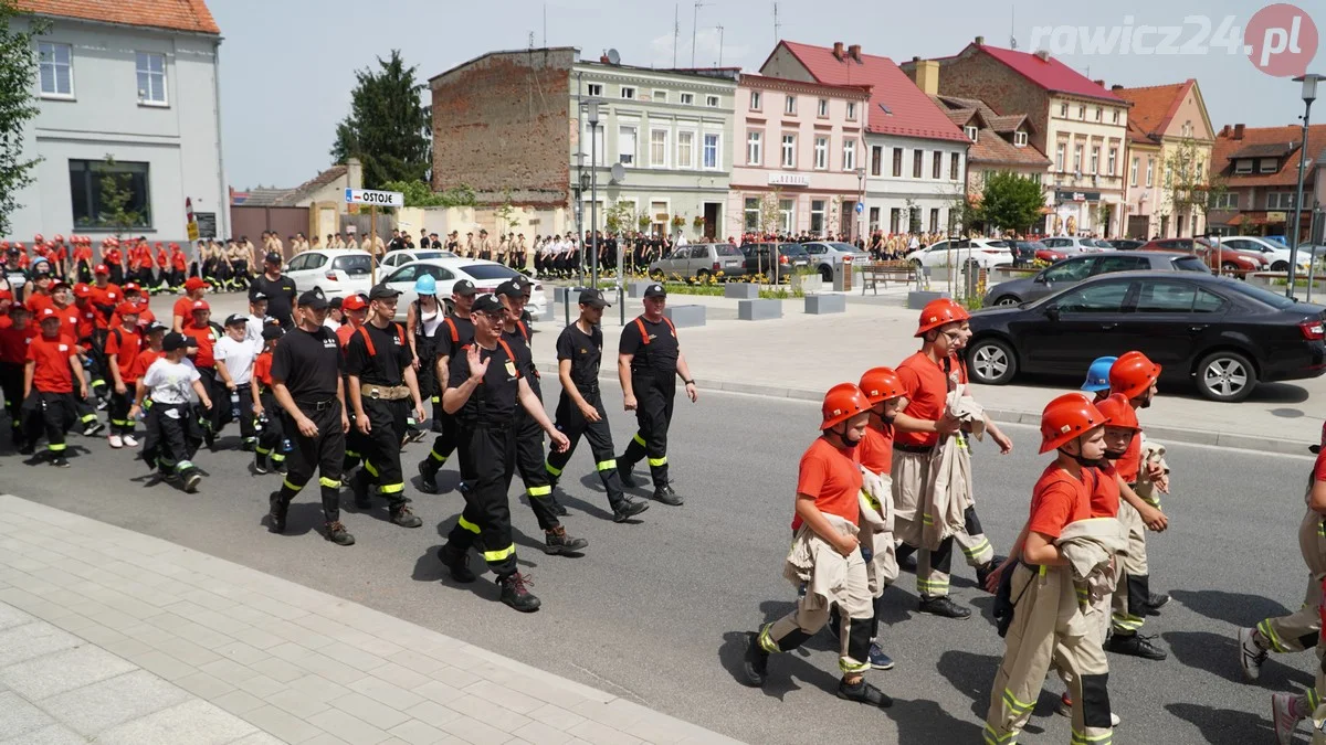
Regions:
[[[603,396],[598,390],[598,370],[602,358],[603,330],[598,326],[593,326],[586,334],[579,330],[579,325],[572,323],[562,329],[562,334],[557,337],[557,362],[572,361],[572,383],[575,384],[575,390],[583,396],[585,403],[598,411],[598,422],[585,419],[572,396],[562,391],[561,399],[557,402],[557,430],[566,435],[570,447],[566,448],[566,452],[550,449],[545,468],[556,485],[562,469],[570,463],[581,435],[585,435],[590,451],[594,453],[594,468],[607,492],[607,504],[615,512],[622,508],[626,494],[622,490],[622,480],[617,473],[617,459],[613,455],[617,452],[613,448],[613,431],[609,428]]]

